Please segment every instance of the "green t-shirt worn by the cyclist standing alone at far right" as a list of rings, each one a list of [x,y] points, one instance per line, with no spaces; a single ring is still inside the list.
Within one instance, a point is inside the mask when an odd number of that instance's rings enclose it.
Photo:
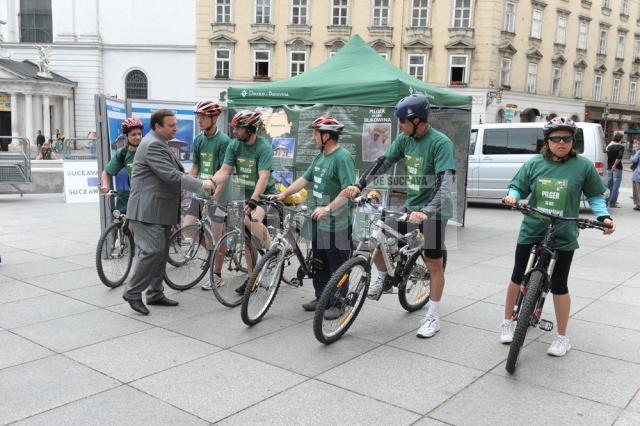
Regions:
[[[538,154],[522,165],[514,176],[510,189],[522,198],[529,195],[529,205],[565,217],[578,217],[582,194],[589,198],[604,194],[606,188],[593,163],[577,156],[562,163],[546,160]],[[549,219],[527,215],[522,220],[519,244],[542,241]],[[561,222],[556,233],[554,248],[575,250],[578,245],[578,227],[574,222]]]

